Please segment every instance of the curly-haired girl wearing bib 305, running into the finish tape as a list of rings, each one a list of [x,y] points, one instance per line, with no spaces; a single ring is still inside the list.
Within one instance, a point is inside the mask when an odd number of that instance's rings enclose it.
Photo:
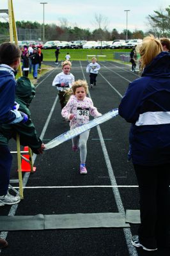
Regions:
[[[84,80],[77,80],[72,86],[73,95],[68,100],[65,108],[62,109],[61,115],[70,120],[70,129],[74,129],[77,126],[86,124],[89,122],[89,115],[101,116],[98,113],[97,108],[93,106],[91,99],[86,97],[88,93],[88,84]],[[80,148],[81,166],[80,173],[86,174],[86,155],[87,148],[86,143],[89,137],[89,130],[82,132],[79,136],[72,139],[72,150],[77,151]]]

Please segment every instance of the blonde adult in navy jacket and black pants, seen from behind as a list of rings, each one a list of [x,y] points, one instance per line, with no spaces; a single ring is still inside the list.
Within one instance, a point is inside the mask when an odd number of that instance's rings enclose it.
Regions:
[[[132,244],[169,247],[170,54],[150,35],[139,48],[142,76],[129,84],[119,114],[130,128],[130,156],[139,184],[141,225]]]

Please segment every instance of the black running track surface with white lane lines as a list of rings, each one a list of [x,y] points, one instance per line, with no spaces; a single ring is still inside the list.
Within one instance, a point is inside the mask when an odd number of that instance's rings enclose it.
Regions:
[[[38,81],[36,97],[30,106],[31,118],[44,143],[69,130],[68,123],[62,122],[57,90],[52,86],[54,77],[61,72],[61,63],[47,64],[52,65],[54,70]],[[86,78],[89,82],[86,65],[86,61],[72,61],[75,79]],[[130,71],[129,65],[109,61],[101,62],[100,65],[97,86],[89,89],[89,96],[98,111],[106,113],[118,108],[128,83],[139,76]],[[127,161],[129,127],[130,124],[123,118],[116,116],[100,127],[91,129],[86,159],[87,175],[79,174],[79,153],[72,152],[71,141],[45,151],[42,156],[34,155],[36,172],[24,173],[24,186],[43,188],[24,189],[24,200],[19,205],[1,207],[0,215],[125,213],[126,209],[139,209],[138,188],[132,187],[137,186],[137,180],[132,163]],[[15,150],[15,142],[11,141],[10,147]],[[15,179],[16,166],[13,157],[11,176]],[[47,188],[49,186],[55,188]],[[137,234],[137,228],[138,225],[130,225],[130,228],[1,232],[1,237],[7,239],[9,246],[1,250],[0,255],[169,255],[166,249],[157,252],[136,250],[131,244],[131,236]]]

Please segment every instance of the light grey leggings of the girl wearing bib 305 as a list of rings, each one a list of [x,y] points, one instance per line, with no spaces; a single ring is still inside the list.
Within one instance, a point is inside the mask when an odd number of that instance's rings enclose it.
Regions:
[[[89,138],[89,130],[86,132],[82,132],[79,136],[72,138],[73,146],[77,146],[80,148],[80,157],[81,163],[86,163],[86,156],[87,156],[87,141]]]

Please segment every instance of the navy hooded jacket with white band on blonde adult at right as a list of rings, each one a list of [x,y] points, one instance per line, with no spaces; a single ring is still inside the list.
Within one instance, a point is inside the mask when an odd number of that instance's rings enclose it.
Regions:
[[[129,140],[134,164],[170,163],[169,52],[160,52],[142,77],[129,84],[119,114],[132,123]]]

